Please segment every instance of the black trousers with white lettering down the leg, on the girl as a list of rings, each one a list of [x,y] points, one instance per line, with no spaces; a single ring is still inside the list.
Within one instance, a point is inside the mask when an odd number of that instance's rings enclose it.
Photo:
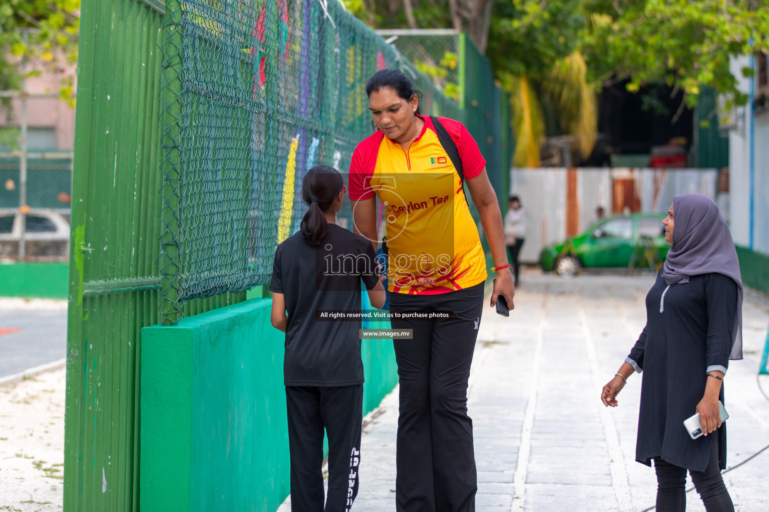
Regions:
[[[358,494],[363,385],[286,386],[291,512],[349,512]],[[328,435],[328,497],[323,432]]]

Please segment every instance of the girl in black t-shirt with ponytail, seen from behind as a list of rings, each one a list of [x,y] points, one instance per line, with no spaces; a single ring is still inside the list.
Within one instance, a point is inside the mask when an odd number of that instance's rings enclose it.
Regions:
[[[328,321],[324,310],[361,310],[361,279],[371,306],[385,292],[371,242],[336,224],[346,193],[341,174],[317,166],[302,182],[308,205],[301,230],[275,250],[271,322],[286,333],[284,383],[291,454],[291,510],[348,512],[358,494],[363,362],[361,321]],[[325,500],[323,433],[328,434]]]

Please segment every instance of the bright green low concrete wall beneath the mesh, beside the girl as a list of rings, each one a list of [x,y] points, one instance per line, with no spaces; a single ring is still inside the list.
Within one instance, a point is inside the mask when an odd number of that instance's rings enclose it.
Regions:
[[[285,338],[270,309],[270,299],[252,299],[142,329],[142,512],[261,512],[285,500]],[[370,411],[398,382],[397,367],[391,341],[361,349]]]

